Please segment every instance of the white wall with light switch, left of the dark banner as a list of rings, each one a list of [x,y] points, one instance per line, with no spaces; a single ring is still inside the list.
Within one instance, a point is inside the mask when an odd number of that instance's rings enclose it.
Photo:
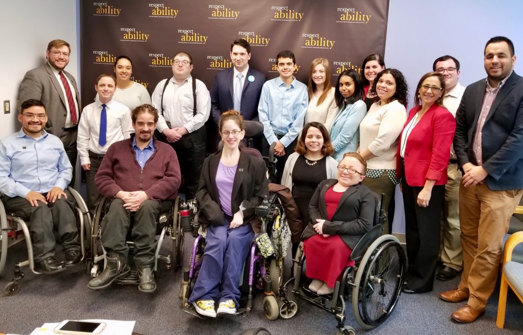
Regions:
[[[22,0],[0,2],[0,102],[10,100],[11,113],[0,110],[0,139],[18,130],[18,88],[25,73],[46,61],[47,43],[63,39],[71,44],[66,70],[78,79],[77,1]]]

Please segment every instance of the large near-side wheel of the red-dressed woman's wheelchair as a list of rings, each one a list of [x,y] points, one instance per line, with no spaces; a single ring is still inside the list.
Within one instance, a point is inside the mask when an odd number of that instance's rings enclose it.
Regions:
[[[380,236],[367,249],[353,288],[353,312],[363,329],[373,329],[390,316],[400,296],[405,267],[405,252],[392,235]]]

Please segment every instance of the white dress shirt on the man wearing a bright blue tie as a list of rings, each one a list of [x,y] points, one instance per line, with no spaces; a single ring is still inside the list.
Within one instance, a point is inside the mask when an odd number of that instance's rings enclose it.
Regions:
[[[80,156],[80,164],[90,164],[89,152],[105,155],[111,144],[131,137],[134,132],[131,121],[131,111],[120,102],[110,100],[106,103],[107,112],[107,143],[98,144],[100,138],[100,113],[102,109],[100,100],[87,105],[82,111],[78,122],[78,138],[76,148]]]

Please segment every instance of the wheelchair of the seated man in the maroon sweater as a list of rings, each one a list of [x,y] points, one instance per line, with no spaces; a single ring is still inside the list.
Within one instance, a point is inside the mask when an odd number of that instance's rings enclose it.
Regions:
[[[105,267],[106,251],[101,245],[101,221],[109,210],[110,200],[103,198],[96,206],[95,217],[93,220],[92,229],[90,230],[90,258],[86,263],[86,271],[92,278],[95,278],[103,271]],[[190,222],[194,220],[195,213],[198,212],[198,204],[196,200],[184,201],[177,197],[166,212],[161,212],[158,215],[156,222],[157,245],[155,249],[154,272],[157,271],[158,259],[165,263],[167,269],[173,268],[177,271],[183,265],[183,251],[184,251],[184,232],[190,230]],[[131,228],[133,225],[133,217],[131,217]],[[133,242],[131,239],[131,231],[129,229],[126,242],[129,246],[129,251],[132,252]],[[161,255],[163,240],[169,238],[172,240],[171,253],[168,255]],[[118,279],[115,284],[139,284],[138,273],[136,270],[131,270],[131,273],[122,279]]]

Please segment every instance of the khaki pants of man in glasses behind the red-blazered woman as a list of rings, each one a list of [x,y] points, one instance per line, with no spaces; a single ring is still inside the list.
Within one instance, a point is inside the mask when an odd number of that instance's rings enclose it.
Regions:
[[[459,186],[461,171],[458,164],[447,167],[448,181],[445,186],[445,198],[441,215],[440,260],[443,265],[460,271],[463,268],[461,253],[461,230],[459,225]]]

